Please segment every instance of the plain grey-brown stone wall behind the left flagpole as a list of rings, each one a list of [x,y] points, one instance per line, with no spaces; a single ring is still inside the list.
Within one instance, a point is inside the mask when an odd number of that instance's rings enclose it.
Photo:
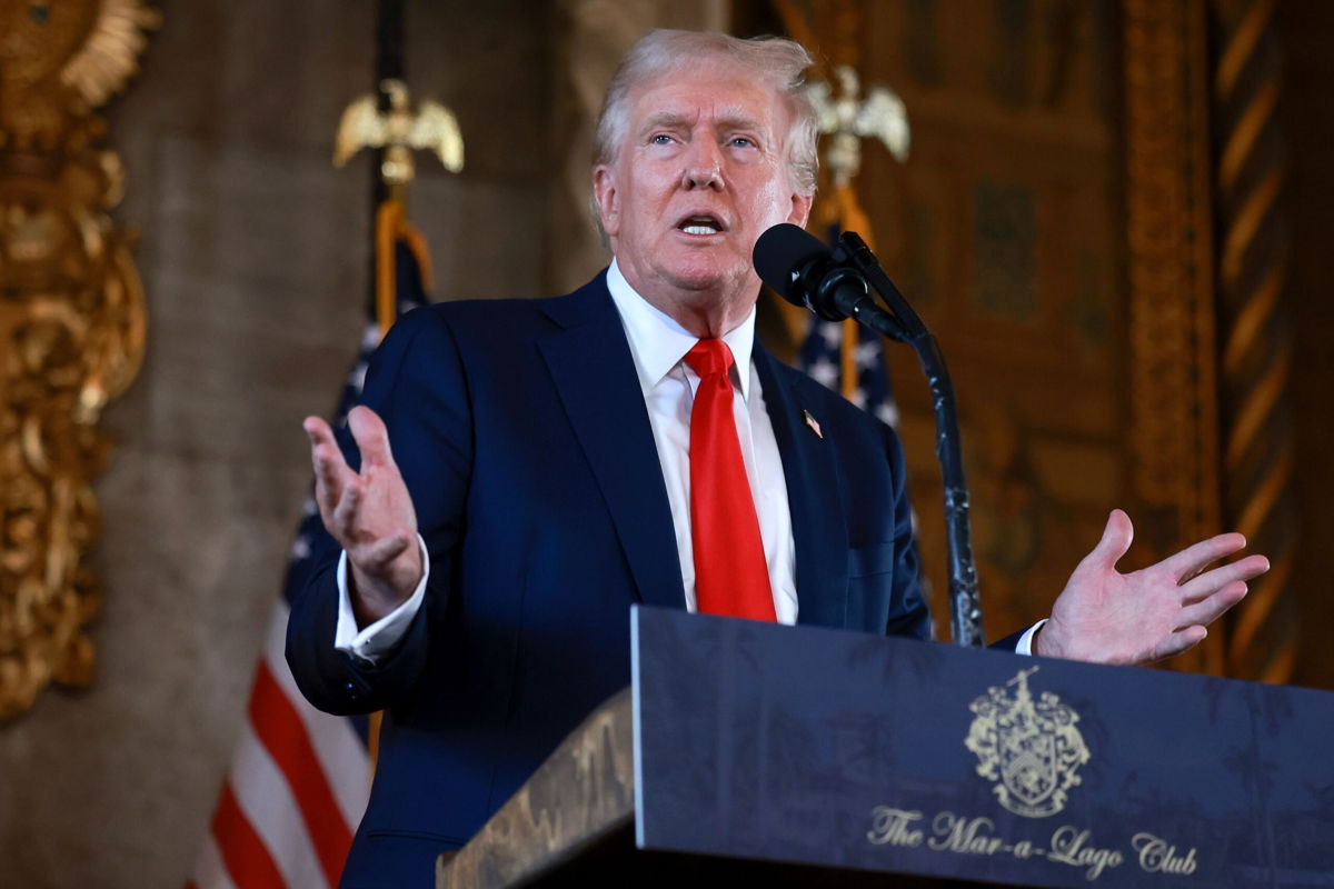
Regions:
[[[360,333],[368,164],[335,171],[329,153],[343,105],[372,85],[374,4],[160,5],[143,73],[109,109],[149,343],[103,424],[97,677],[0,726],[5,886],[183,885],[299,516],[300,419],[332,407]],[[567,85],[600,91],[590,77],[643,28],[718,21],[723,4],[408,7],[408,83],[455,109],[468,152],[460,176],[423,157],[411,191],[436,296],[587,280],[602,252],[578,231],[582,193],[556,180],[587,175],[595,109],[562,104]]]

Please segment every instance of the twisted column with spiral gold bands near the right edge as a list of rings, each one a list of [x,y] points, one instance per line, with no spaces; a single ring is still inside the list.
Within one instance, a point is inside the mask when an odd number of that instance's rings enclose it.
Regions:
[[[1291,589],[1298,520],[1286,396],[1291,333],[1282,301],[1289,239],[1278,207],[1281,53],[1273,0],[1213,0],[1210,12],[1219,40],[1213,85],[1225,508],[1273,564],[1231,618],[1227,670],[1287,682],[1298,645]]]

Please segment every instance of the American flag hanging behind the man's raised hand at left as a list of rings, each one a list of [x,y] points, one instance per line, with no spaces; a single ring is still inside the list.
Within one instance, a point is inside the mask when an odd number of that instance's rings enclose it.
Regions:
[[[396,315],[426,303],[428,272],[420,236],[403,225],[394,241]],[[347,423],[347,412],[360,399],[367,363],[380,340],[375,319],[372,303],[360,353],[339,399],[336,425]],[[311,542],[317,533],[319,510],[307,496],[283,597],[255,670],[240,745],[187,889],[336,886],[366,810],[371,789],[367,717],[329,716],[307,704],[283,654],[289,602],[313,569]]]

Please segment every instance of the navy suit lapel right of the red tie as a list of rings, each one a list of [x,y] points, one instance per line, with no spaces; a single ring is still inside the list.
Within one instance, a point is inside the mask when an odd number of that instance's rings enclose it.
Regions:
[[[847,610],[847,532],[834,446],[806,421],[802,385],[819,385],[780,367],[759,343],[755,371],[787,478],[796,544],[796,622],[843,626]],[[819,416],[814,416],[819,421]],[[830,429],[826,435],[836,433]]]

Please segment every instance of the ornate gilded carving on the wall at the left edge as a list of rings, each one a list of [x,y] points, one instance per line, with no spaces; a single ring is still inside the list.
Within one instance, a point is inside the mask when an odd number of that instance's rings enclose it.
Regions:
[[[92,680],[96,421],[137,373],[145,324],[95,111],[157,24],[143,0],[0,0],[0,718]]]

